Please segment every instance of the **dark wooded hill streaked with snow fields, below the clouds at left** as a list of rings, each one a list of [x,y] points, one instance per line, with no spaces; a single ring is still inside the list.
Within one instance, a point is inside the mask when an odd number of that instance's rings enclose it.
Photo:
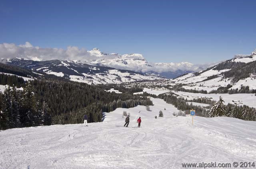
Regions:
[[[7,64],[88,84],[119,84],[162,79],[162,77],[154,75],[146,75],[144,73],[115,69],[112,67],[92,66],[83,64],[80,61],[71,60],[32,61],[13,58],[7,61]]]

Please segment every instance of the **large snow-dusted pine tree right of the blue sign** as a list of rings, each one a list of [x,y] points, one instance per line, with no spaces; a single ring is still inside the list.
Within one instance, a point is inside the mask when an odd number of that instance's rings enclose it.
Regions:
[[[226,115],[226,106],[223,104],[224,100],[220,96],[218,100],[211,108],[209,112],[209,117],[225,116]]]

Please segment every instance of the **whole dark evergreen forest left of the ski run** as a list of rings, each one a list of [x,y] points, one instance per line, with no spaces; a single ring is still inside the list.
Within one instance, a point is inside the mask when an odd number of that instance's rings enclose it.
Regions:
[[[0,93],[0,130],[51,124],[100,122],[102,112],[118,107],[152,105],[147,97],[106,92],[97,86],[60,80],[34,80],[24,90],[14,86]]]

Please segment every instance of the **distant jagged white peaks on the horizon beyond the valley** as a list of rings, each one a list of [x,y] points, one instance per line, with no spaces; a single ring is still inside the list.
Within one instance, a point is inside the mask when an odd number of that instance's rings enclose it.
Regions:
[[[209,65],[194,65],[189,62],[182,63],[149,63],[141,54],[131,53],[119,55],[117,53],[103,53],[98,48],[88,51],[96,58],[86,60],[89,65],[114,67],[116,69],[132,70],[141,73],[154,73],[167,78],[174,78],[184,73],[206,69]]]

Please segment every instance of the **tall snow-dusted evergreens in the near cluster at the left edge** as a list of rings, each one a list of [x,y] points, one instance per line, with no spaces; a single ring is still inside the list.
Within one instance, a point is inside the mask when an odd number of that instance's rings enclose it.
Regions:
[[[23,91],[9,86],[0,92],[0,130],[50,125],[51,116],[46,102],[41,105],[33,86],[27,83]]]

